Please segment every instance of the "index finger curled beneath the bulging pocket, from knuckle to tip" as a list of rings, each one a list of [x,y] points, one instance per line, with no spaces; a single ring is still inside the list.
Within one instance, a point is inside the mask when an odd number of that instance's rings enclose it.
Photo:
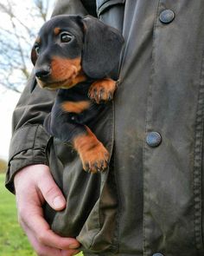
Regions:
[[[35,207],[36,209],[37,207]],[[36,210],[30,209],[30,213],[32,213],[32,218],[30,218],[30,214],[24,214],[23,226],[28,226],[27,229],[32,230],[32,233],[35,234],[36,239],[40,244],[45,246],[53,246],[58,249],[76,249],[80,247],[80,243],[73,238],[65,238],[54,233],[46,220],[44,220],[41,207],[38,207],[38,213]]]

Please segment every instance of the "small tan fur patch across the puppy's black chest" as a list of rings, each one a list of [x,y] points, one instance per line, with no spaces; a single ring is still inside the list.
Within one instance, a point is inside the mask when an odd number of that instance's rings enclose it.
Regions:
[[[61,108],[70,113],[80,114],[84,110],[90,107],[90,102],[81,101],[81,102],[63,102],[61,104]]]

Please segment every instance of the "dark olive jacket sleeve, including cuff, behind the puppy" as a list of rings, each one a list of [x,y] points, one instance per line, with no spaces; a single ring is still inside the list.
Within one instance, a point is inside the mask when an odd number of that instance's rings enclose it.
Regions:
[[[86,16],[90,13],[85,8],[87,2],[58,0],[54,7],[53,16],[60,14]],[[48,165],[45,150],[49,135],[42,124],[53,106],[55,92],[40,89],[36,86],[31,93],[34,80],[35,75],[32,72],[13,113],[13,134],[10,141],[9,162],[5,181],[5,186],[12,193],[15,193],[14,176],[22,167],[40,163]]]

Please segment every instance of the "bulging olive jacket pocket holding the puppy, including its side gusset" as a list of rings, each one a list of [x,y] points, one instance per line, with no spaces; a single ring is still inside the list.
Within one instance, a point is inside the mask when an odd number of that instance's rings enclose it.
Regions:
[[[112,155],[112,102],[88,126]],[[47,151],[54,181],[67,198],[67,207],[61,212],[54,212],[48,205],[45,206],[45,217],[51,228],[61,236],[77,237],[85,252],[116,250],[118,195],[113,168],[109,165],[103,173],[86,173],[71,145],[57,139]]]

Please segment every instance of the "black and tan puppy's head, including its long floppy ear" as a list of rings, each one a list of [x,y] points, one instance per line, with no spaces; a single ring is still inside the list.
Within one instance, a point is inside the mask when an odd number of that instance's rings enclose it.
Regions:
[[[55,16],[41,27],[31,52],[35,78],[47,89],[104,78],[118,64],[123,43],[118,30],[91,16]]]

